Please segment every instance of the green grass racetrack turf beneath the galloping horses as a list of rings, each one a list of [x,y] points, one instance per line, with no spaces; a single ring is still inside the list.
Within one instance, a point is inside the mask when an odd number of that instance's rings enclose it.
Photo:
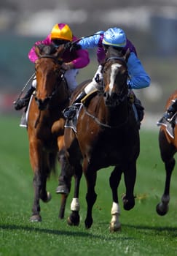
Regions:
[[[98,172],[97,201],[93,208],[93,226],[84,228],[86,184],[82,178],[79,227],[70,227],[66,218],[58,219],[60,196],[55,194],[58,176],[51,176],[47,189],[50,203],[41,203],[42,222],[31,223],[33,172],[28,159],[28,138],[19,127],[20,118],[1,116],[0,135],[0,256],[85,255],[149,256],[176,255],[177,187],[176,171],[171,182],[170,209],[166,216],[156,213],[165,182],[157,131],[141,129],[141,154],[137,164],[135,208],[125,211],[120,200],[122,230],[109,233],[111,220],[111,168]],[[73,188],[72,188],[73,189]],[[125,192],[123,179],[119,198]],[[66,217],[70,213],[68,197]]]

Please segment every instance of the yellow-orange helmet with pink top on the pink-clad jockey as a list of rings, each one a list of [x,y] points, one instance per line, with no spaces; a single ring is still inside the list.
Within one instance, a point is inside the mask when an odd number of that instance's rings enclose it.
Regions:
[[[52,28],[51,39],[63,39],[72,41],[73,34],[70,27],[65,23],[58,23]]]

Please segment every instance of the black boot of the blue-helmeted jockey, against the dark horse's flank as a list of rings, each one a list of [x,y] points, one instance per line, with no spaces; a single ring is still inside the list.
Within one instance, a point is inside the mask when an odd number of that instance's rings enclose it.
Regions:
[[[86,96],[87,94],[85,93],[85,91],[82,91],[74,100],[73,104],[71,106],[68,106],[68,108],[65,108],[63,110],[63,116],[68,119],[71,120],[72,118],[74,118],[74,116],[76,115],[76,110],[78,110],[76,104],[80,103],[81,100]]]

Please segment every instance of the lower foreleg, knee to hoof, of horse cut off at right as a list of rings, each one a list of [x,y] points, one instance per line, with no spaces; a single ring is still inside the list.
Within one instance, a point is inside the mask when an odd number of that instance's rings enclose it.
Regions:
[[[170,159],[169,162],[165,162],[165,171],[166,171],[166,179],[165,179],[165,190],[161,198],[161,202],[157,204],[156,211],[157,214],[163,216],[168,213],[168,204],[170,202],[170,178],[173,172],[173,168],[175,166],[175,159]]]

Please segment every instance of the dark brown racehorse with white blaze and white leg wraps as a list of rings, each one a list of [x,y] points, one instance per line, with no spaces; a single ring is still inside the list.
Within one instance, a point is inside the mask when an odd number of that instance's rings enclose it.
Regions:
[[[103,65],[103,91],[95,93],[88,100],[85,99],[78,113],[76,132],[67,127],[66,123],[64,138],[68,162],[74,167],[75,178],[68,224],[79,225],[79,183],[83,172],[87,181],[87,217],[84,224],[86,228],[92,226],[92,210],[97,197],[97,171],[112,165],[114,170],[111,172],[109,184],[113,203],[109,230],[114,232],[121,227],[117,189],[122,173],[126,187],[122,197],[124,208],[130,210],[135,205],[133,191],[140,142],[138,124],[128,97],[127,59],[130,51],[122,55],[116,49],[109,48],[106,55]],[[88,83],[84,82],[77,88],[71,103]]]

